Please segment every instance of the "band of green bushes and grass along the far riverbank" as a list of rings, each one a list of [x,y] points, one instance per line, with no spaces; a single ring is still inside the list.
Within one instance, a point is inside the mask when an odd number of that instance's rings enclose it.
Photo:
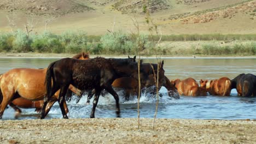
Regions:
[[[142,35],[142,55],[154,55],[154,43],[148,35]],[[155,39],[157,39],[155,37]],[[254,56],[256,34],[179,34],[162,35],[157,48],[168,56]],[[27,35],[18,29],[14,33],[0,34],[0,52],[44,52],[126,55],[135,52],[137,39],[129,33],[117,31],[104,35],[88,35],[84,31],[51,32]]]

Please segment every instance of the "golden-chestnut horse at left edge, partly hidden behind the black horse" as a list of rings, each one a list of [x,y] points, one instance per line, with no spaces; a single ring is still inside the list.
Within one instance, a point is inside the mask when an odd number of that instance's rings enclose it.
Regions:
[[[76,59],[88,59],[88,53],[79,53],[73,58]],[[12,69],[7,73],[1,75],[0,86],[3,93],[3,101],[0,101],[0,118],[3,115],[6,104],[9,103],[16,111],[15,117],[19,116],[21,108],[36,108],[36,111],[40,111],[43,106],[43,97],[46,94],[44,86],[44,77],[46,75],[45,69]],[[69,89],[77,95],[81,94],[81,91],[72,85]],[[0,95],[1,97],[1,95]],[[53,99],[48,104],[48,109],[53,106],[57,98],[59,97],[59,91],[54,95]],[[39,101],[37,101],[39,100]],[[67,105],[65,110],[68,112]]]

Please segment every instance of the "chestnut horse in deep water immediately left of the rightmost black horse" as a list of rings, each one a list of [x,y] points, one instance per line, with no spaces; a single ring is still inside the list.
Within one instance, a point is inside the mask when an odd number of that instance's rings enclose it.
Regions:
[[[221,77],[218,80],[201,80],[201,87],[212,95],[229,96],[231,92],[231,81],[228,77]]]

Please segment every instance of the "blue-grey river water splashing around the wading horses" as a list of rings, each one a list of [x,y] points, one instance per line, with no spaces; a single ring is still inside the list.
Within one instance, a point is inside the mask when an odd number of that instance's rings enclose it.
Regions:
[[[56,58],[0,58],[0,73],[13,68],[45,68]],[[185,79],[193,77],[200,79],[218,79],[226,76],[233,79],[241,73],[256,74],[256,58],[168,58],[164,60],[165,75],[170,79]],[[144,62],[155,63],[154,59],[144,59]],[[148,90],[150,91],[150,89]],[[232,89],[230,97],[185,97],[172,99],[167,96],[165,88],[160,92],[158,118],[192,118],[192,119],[256,119],[256,98],[242,98],[237,96],[236,89]],[[123,91],[118,91],[120,97],[121,117],[137,117],[137,99],[124,101]],[[88,118],[92,103],[86,105],[86,96],[75,103],[73,97],[68,103],[69,118]],[[92,100],[91,100],[92,101]],[[156,98],[143,93],[140,99],[140,116],[152,118],[155,113]],[[36,119],[38,114],[34,109],[22,109],[19,119]],[[116,117],[115,101],[112,95],[100,97],[95,117]],[[62,118],[59,104],[55,104],[46,118]],[[6,109],[3,119],[14,119],[14,110]]]

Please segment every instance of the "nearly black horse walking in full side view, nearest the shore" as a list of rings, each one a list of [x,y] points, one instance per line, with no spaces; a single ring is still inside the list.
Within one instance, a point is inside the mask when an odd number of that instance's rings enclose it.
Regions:
[[[44,118],[46,104],[50,98],[60,89],[59,105],[63,118],[68,118],[63,107],[68,86],[73,85],[82,91],[95,89],[94,105],[91,118],[95,117],[95,109],[100,93],[103,89],[112,94],[116,103],[116,113],[120,116],[119,97],[111,84],[115,79],[124,76],[138,76],[138,66],[133,58],[102,58],[96,57],[81,61],[71,58],[63,58],[49,65],[46,72],[45,83],[47,93],[44,97],[44,106],[40,118]],[[146,76],[146,75],[145,75]],[[52,81],[53,80],[53,85]]]

